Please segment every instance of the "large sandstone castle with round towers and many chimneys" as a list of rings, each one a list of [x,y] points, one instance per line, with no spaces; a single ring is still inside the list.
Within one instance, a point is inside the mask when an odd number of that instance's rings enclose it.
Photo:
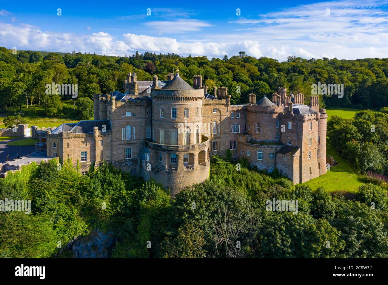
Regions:
[[[326,173],[325,109],[318,96],[279,88],[256,102],[231,105],[227,88],[208,94],[202,76],[190,86],[179,76],[137,81],[129,73],[125,93],[94,95],[94,120],[47,131],[47,156],[80,163],[81,173],[105,160],[132,175],[160,182],[171,196],[210,175],[210,156],[247,159],[275,168],[294,184]]]

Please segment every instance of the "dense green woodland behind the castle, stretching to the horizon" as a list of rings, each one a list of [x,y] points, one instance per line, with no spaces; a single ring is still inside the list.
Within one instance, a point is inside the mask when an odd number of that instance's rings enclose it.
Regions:
[[[311,85],[320,82],[343,84],[345,88],[343,98],[324,95],[321,105],[358,109],[379,109],[388,105],[388,59],[288,57],[286,62],[279,62],[268,57],[256,59],[245,52],[211,60],[150,52],[112,57],[81,52],[16,52],[1,47],[0,108],[41,104],[47,115],[55,115],[61,112],[61,100],[69,97],[46,95],[45,85],[53,81],[78,84],[78,97],[92,98],[94,93],[123,91],[123,80],[128,72],[136,72],[138,80],[152,80],[155,74],[166,80],[167,74],[177,67],[180,76],[190,84],[193,75],[202,75],[210,93],[214,86],[227,87],[232,104],[248,102],[250,92],[258,99],[271,95],[278,87],[304,93],[308,103]]]

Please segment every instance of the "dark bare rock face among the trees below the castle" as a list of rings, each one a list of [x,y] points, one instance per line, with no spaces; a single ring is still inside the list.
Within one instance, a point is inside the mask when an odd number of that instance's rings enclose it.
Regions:
[[[115,243],[116,237],[112,232],[95,229],[89,235],[73,240],[66,249],[73,251],[76,258],[108,258]]]

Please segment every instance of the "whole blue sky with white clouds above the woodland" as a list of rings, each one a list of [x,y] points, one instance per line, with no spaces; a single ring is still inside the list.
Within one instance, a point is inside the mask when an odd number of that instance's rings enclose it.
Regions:
[[[30,3],[0,0],[0,46],[120,56],[388,57],[386,0]]]

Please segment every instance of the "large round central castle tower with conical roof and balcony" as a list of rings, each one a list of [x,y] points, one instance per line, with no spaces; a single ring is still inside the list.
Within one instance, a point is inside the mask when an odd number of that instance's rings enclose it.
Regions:
[[[204,89],[192,88],[179,71],[165,86],[154,86],[152,137],[145,140],[149,160],[142,161],[143,176],[161,183],[175,196],[209,176],[209,140],[202,136]]]

